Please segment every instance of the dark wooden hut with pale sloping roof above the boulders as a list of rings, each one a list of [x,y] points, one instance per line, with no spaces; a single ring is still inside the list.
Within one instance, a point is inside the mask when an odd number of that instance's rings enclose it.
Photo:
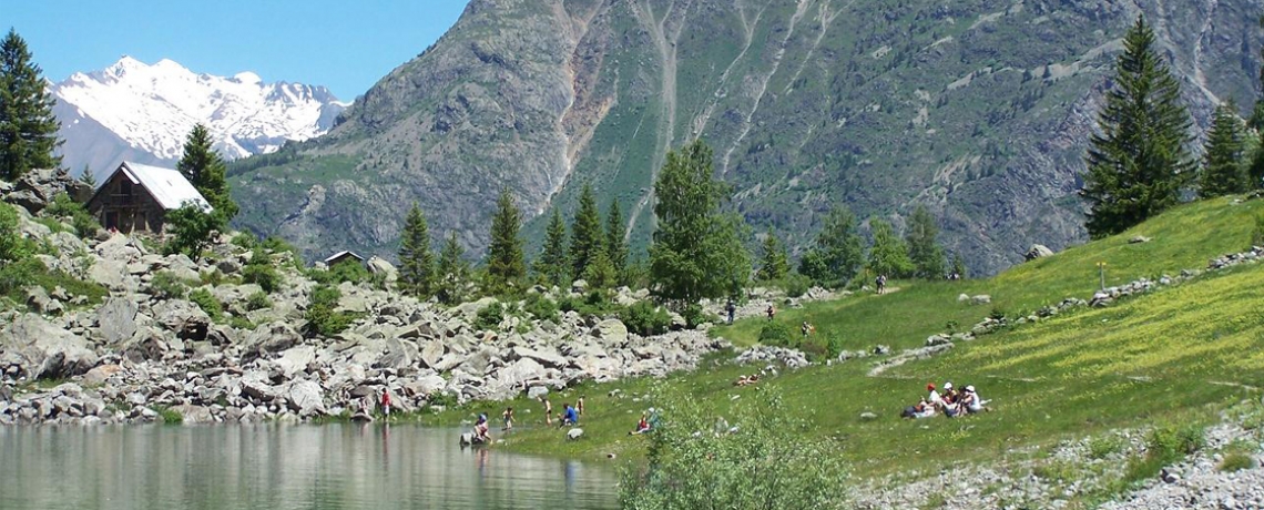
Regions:
[[[87,210],[105,228],[120,232],[162,232],[167,211],[186,202],[211,211],[202,193],[178,170],[123,162],[87,201]]]

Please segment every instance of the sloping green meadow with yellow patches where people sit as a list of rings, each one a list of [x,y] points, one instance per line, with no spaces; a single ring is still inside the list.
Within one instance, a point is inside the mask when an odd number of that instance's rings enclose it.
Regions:
[[[901,283],[884,297],[851,297],[782,313],[786,321],[811,317],[820,328],[841,328],[848,348],[876,343],[918,346],[947,321],[972,324],[988,311],[958,304],[958,293],[990,292],[1010,309],[1087,297],[1096,288],[1093,264],[1106,261],[1110,282],[1202,268],[1207,259],[1239,251],[1248,240],[1250,215],[1264,202],[1227,199],[1194,203],[1121,236],[1092,242],[1053,258],[1015,268],[994,279],[956,284]],[[1145,234],[1153,241],[1129,244]],[[1079,309],[1039,324],[1021,326],[948,353],[909,362],[871,377],[870,360],[814,366],[761,384],[780,386],[791,409],[803,409],[822,434],[841,438],[838,452],[862,476],[939,467],[958,461],[1005,460],[1030,454],[1024,447],[1049,444],[1112,428],[1208,420],[1213,412],[1264,388],[1264,266],[1249,265],[1207,274],[1101,309]],[[719,335],[751,342],[761,319],[748,319]],[[731,414],[757,388],[734,388],[739,374],[757,367],[719,362],[680,374],[667,384],[685,389],[719,415]],[[928,381],[973,384],[995,412],[949,420],[900,420]],[[637,454],[642,439],[627,436],[651,400],[636,401],[652,381],[593,385],[555,396],[573,401],[586,394],[585,441],[565,442],[561,433],[536,424],[518,401],[522,430],[508,438],[517,451],[600,456]],[[622,398],[608,393],[618,389]],[[480,409],[482,410],[482,409]],[[488,409],[493,410],[493,409]],[[861,413],[876,420],[860,419]],[[455,413],[454,413],[455,414]],[[451,418],[451,415],[449,417]]]

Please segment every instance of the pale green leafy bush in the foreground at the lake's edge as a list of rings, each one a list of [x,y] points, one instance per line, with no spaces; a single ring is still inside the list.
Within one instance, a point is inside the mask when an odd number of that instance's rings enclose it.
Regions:
[[[739,430],[732,434],[718,430],[695,399],[655,393],[661,425],[647,434],[646,465],[622,476],[623,509],[846,507],[846,472],[833,453],[839,447],[811,433],[804,412],[787,406],[776,388],[732,409],[728,423]]]

